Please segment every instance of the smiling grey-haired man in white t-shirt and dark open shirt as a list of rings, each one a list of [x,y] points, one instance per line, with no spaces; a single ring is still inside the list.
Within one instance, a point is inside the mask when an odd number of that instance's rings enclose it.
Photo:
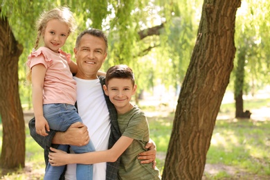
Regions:
[[[46,164],[48,164],[48,147],[52,144],[85,145],[89,136],[96,151],[107,150],[120,138],[117,123],[117,112],[109,98],[105,96],[102,85],[104,77],[97,76],[98,70],[107,57],[107,37],[97,29],[84,30],[77,38],[74,53],[78,72],[74,79],[77,82],[78,113],[84,125],[76,123],[66,132],[51,130],[43,137],[35,132],[35,119],[30,120],[30,134],[44,148]],[[88,132],[87,132],[88,129]],[[154,143],[147,144],[151,150],[141,153],[141,163],[154,162],[156,150]],[[98,163],[93,165],[93,179],[117,179],[119,159],[114,163]],[[105,175],[106,174],[106,175]],[[75,179],[75,165],[68,165],[66,179]]]

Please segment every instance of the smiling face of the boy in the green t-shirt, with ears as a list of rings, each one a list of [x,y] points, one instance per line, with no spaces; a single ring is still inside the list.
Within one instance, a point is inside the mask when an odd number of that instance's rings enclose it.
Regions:
[[[118,113],[126,113],[130,110],[130,100],[136,93],[136,84],[132,85],[132,80],[123,78],[112,78],[108,82],[108,87],[103,89],[109,100],[114,104]]]

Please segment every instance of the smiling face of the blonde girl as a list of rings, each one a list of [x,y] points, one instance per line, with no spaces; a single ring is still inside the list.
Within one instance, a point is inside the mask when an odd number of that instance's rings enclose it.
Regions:
[[[44,30],[44,45],[51,51],[58,53],[58,49],[64,46],[67,37],[69,37],[69,26],[57,19],[48,21]]]

